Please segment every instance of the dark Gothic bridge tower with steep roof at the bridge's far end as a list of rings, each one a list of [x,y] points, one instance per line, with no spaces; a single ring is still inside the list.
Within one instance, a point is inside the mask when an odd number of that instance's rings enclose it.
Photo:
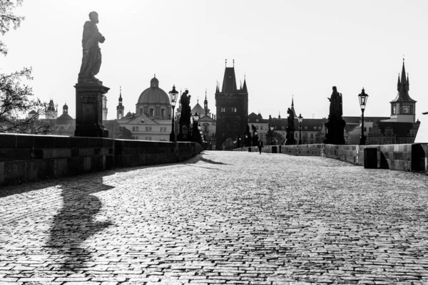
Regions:
[[[226,61],[227,63],[227,61]],[[244,79],[243,87],[238,89],[235,77],[235,61],[233,67],[226,64],[223,86],[216,88],[216,130],[215,149],[233,149],[233,141],[243,138],[245,128],[248,125],[248,90],[247,82]]]

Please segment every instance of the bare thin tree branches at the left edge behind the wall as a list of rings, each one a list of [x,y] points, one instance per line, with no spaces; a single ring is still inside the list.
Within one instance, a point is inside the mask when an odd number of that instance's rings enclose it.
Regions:
[[[12,13],[23,0],[0,0],[0,33],[3,36],[11,28],[19,28],[24,16]],[[0,41],[0,53],[6,56],[7,48]],[[31,87],[22,83],[22,80],[32,80],[31,68],[23,68],[13,73],[2,73],[0,70],[0,133],[49,133],[49,125],[40,120],[39,115],[44,113],[47,104],[39,99],[33,99]],[[35,110],[30,118],[22,119],[23,115]]]

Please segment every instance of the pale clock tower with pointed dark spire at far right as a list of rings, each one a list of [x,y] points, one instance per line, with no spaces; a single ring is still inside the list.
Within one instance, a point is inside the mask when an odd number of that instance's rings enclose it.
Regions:
[[[404,59],[401,80],[398,76],[397,91],[397,97],[395,97],[394,100],[390,102],[391,119],[389,121],[414,123],[416,114],[416,101],[409,96],[409,75],[407,74],[406,78]]]

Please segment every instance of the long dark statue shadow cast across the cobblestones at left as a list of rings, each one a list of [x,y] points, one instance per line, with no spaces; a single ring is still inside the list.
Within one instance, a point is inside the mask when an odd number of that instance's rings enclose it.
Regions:
[[[97,221],[102,207],[95,193],[110,190],[103,185],[104,173],[82,177],[76,182],[64,181],[61,190],[63,205],[52,221],[46,248],[58,257],[61,270],[74,271],[92,260],[92,250],[86,240],[106,227],[109,221]]]

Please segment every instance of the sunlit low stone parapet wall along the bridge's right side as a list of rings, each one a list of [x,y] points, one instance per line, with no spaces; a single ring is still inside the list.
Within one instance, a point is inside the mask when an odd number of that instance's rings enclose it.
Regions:
[[[235,150],[248,151],[248,148],[240,147]],[[253,152],[258,152],[258,147],[251,148]],[[286,155],[322,156],[350,162],[355,165],[365,165],[365,148],[376,149],[376,157],[366,158],[376,160],[377,164],[375,163],[375,165],[377,165],[377,168],[428,173],[427,143],[402,145],[282,145],[281,153]],[[279,152],[279,146],[268,145],[263,147],[262,151],[277,153]]]

